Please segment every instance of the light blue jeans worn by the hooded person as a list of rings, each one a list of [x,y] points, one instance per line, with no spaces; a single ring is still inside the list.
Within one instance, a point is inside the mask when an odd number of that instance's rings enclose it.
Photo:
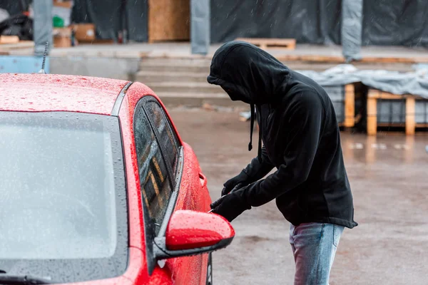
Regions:
[[[344,227],[337,224],[304,223],[290,226],[295,258],[295,285],[328,285],[330,269]]]

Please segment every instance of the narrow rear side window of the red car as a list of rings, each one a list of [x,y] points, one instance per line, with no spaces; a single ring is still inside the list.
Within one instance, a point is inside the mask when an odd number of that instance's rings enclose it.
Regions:
[[[172,170],[173,175],[175,175],[179,146],[168,117],[155,98],[150,98],[144,105],[144,108],[153,122],[153,127],[157,130],[158,140],[161,143],[165,162]]]

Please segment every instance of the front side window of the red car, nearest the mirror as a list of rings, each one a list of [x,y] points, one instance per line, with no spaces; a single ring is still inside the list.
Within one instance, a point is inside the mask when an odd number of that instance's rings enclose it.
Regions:
[[[165,164],[161,146],[143,104],[138,104],[134,114],[134,139],[138,159],[141,199],[148,214],[156,224],[162,224],[168,207],[173,179]],[[158,234],[159,227],[156,227]]]

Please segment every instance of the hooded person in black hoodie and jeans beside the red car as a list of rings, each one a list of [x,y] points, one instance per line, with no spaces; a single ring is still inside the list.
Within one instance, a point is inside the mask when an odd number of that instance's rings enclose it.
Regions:
[[[290,222],[295,284],[328,284],[342,231],[357,226],[329,96],[312,79],[244,41],[218,48],[207,80],[231,100],[250,104],[248,150],[255,117],[259,125],[258,156],[225,182],[211,209],[231,222],[276,199]]]

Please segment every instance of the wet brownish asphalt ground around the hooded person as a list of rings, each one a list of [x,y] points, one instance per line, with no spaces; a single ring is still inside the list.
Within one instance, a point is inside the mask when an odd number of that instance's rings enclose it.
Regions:
[[[195,150],[212,199],[256,154],[249,123],[238,113],[170,110]],[[257,132],[253,141],[257,142]],[[345,229],[330,284],[428,284],[428,135],[342,133],[355,202],[354,229]],[[292,284],[289,223],[270,202],[233,221],[235,239],[214,254],[214,284]]]

